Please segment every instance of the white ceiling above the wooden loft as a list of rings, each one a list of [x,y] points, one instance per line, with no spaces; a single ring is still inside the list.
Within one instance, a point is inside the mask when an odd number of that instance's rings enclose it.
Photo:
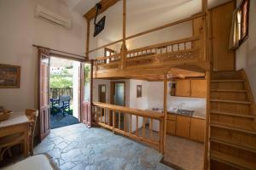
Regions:
[[[81,15],[100,2],[100,0],[59,1]],[[212,8],[228,1],[230,0],[208,0],[208,6]],[[126,36],[201,12],[201,0],[127,0],[126,3]],[[93,39],[102,39],[104,42],[119,40],[122,36],[122,0],[108,8],[104,15],[107,16],[105,29],[101,35]],[[91,24],[91,30],[93,29]]]

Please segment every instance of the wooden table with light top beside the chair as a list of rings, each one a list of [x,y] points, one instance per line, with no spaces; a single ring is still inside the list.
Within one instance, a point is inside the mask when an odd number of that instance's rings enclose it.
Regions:
[[[13,112],[9,119],[0,122],[0,138],[15,133],[24,133],[24,156],[29,152],[29,125],[31,121],[24,111]]]

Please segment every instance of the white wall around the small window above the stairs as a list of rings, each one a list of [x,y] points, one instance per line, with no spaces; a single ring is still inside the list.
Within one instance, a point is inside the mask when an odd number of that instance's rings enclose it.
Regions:
[[[237,0],[239,5],[241,0]],[[236,70],[245,69],[254,99],[256,98],[256,1],[250,1],[249,36],[236,50]]]

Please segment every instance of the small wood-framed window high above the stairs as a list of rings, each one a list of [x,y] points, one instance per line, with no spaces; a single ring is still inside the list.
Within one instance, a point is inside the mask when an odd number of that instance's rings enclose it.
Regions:
[[[233,14],[230,48],[239,48],[248,37],[249,0],[242,0]]]

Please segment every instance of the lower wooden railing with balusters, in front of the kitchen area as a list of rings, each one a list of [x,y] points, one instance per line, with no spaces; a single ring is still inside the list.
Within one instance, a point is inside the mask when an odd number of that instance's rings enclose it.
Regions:
[[[119,105],[93,103],[96,124],[106,127],[113,133],[120,133],[128,138],[153,144],[163,153],[165,115],[156,111],[143,111]],[[139,122],[142,120],[142,126]],[[159,132],[153,131],[153,123],[159,121]],[[149,128],[148,128],[149,122]]]

